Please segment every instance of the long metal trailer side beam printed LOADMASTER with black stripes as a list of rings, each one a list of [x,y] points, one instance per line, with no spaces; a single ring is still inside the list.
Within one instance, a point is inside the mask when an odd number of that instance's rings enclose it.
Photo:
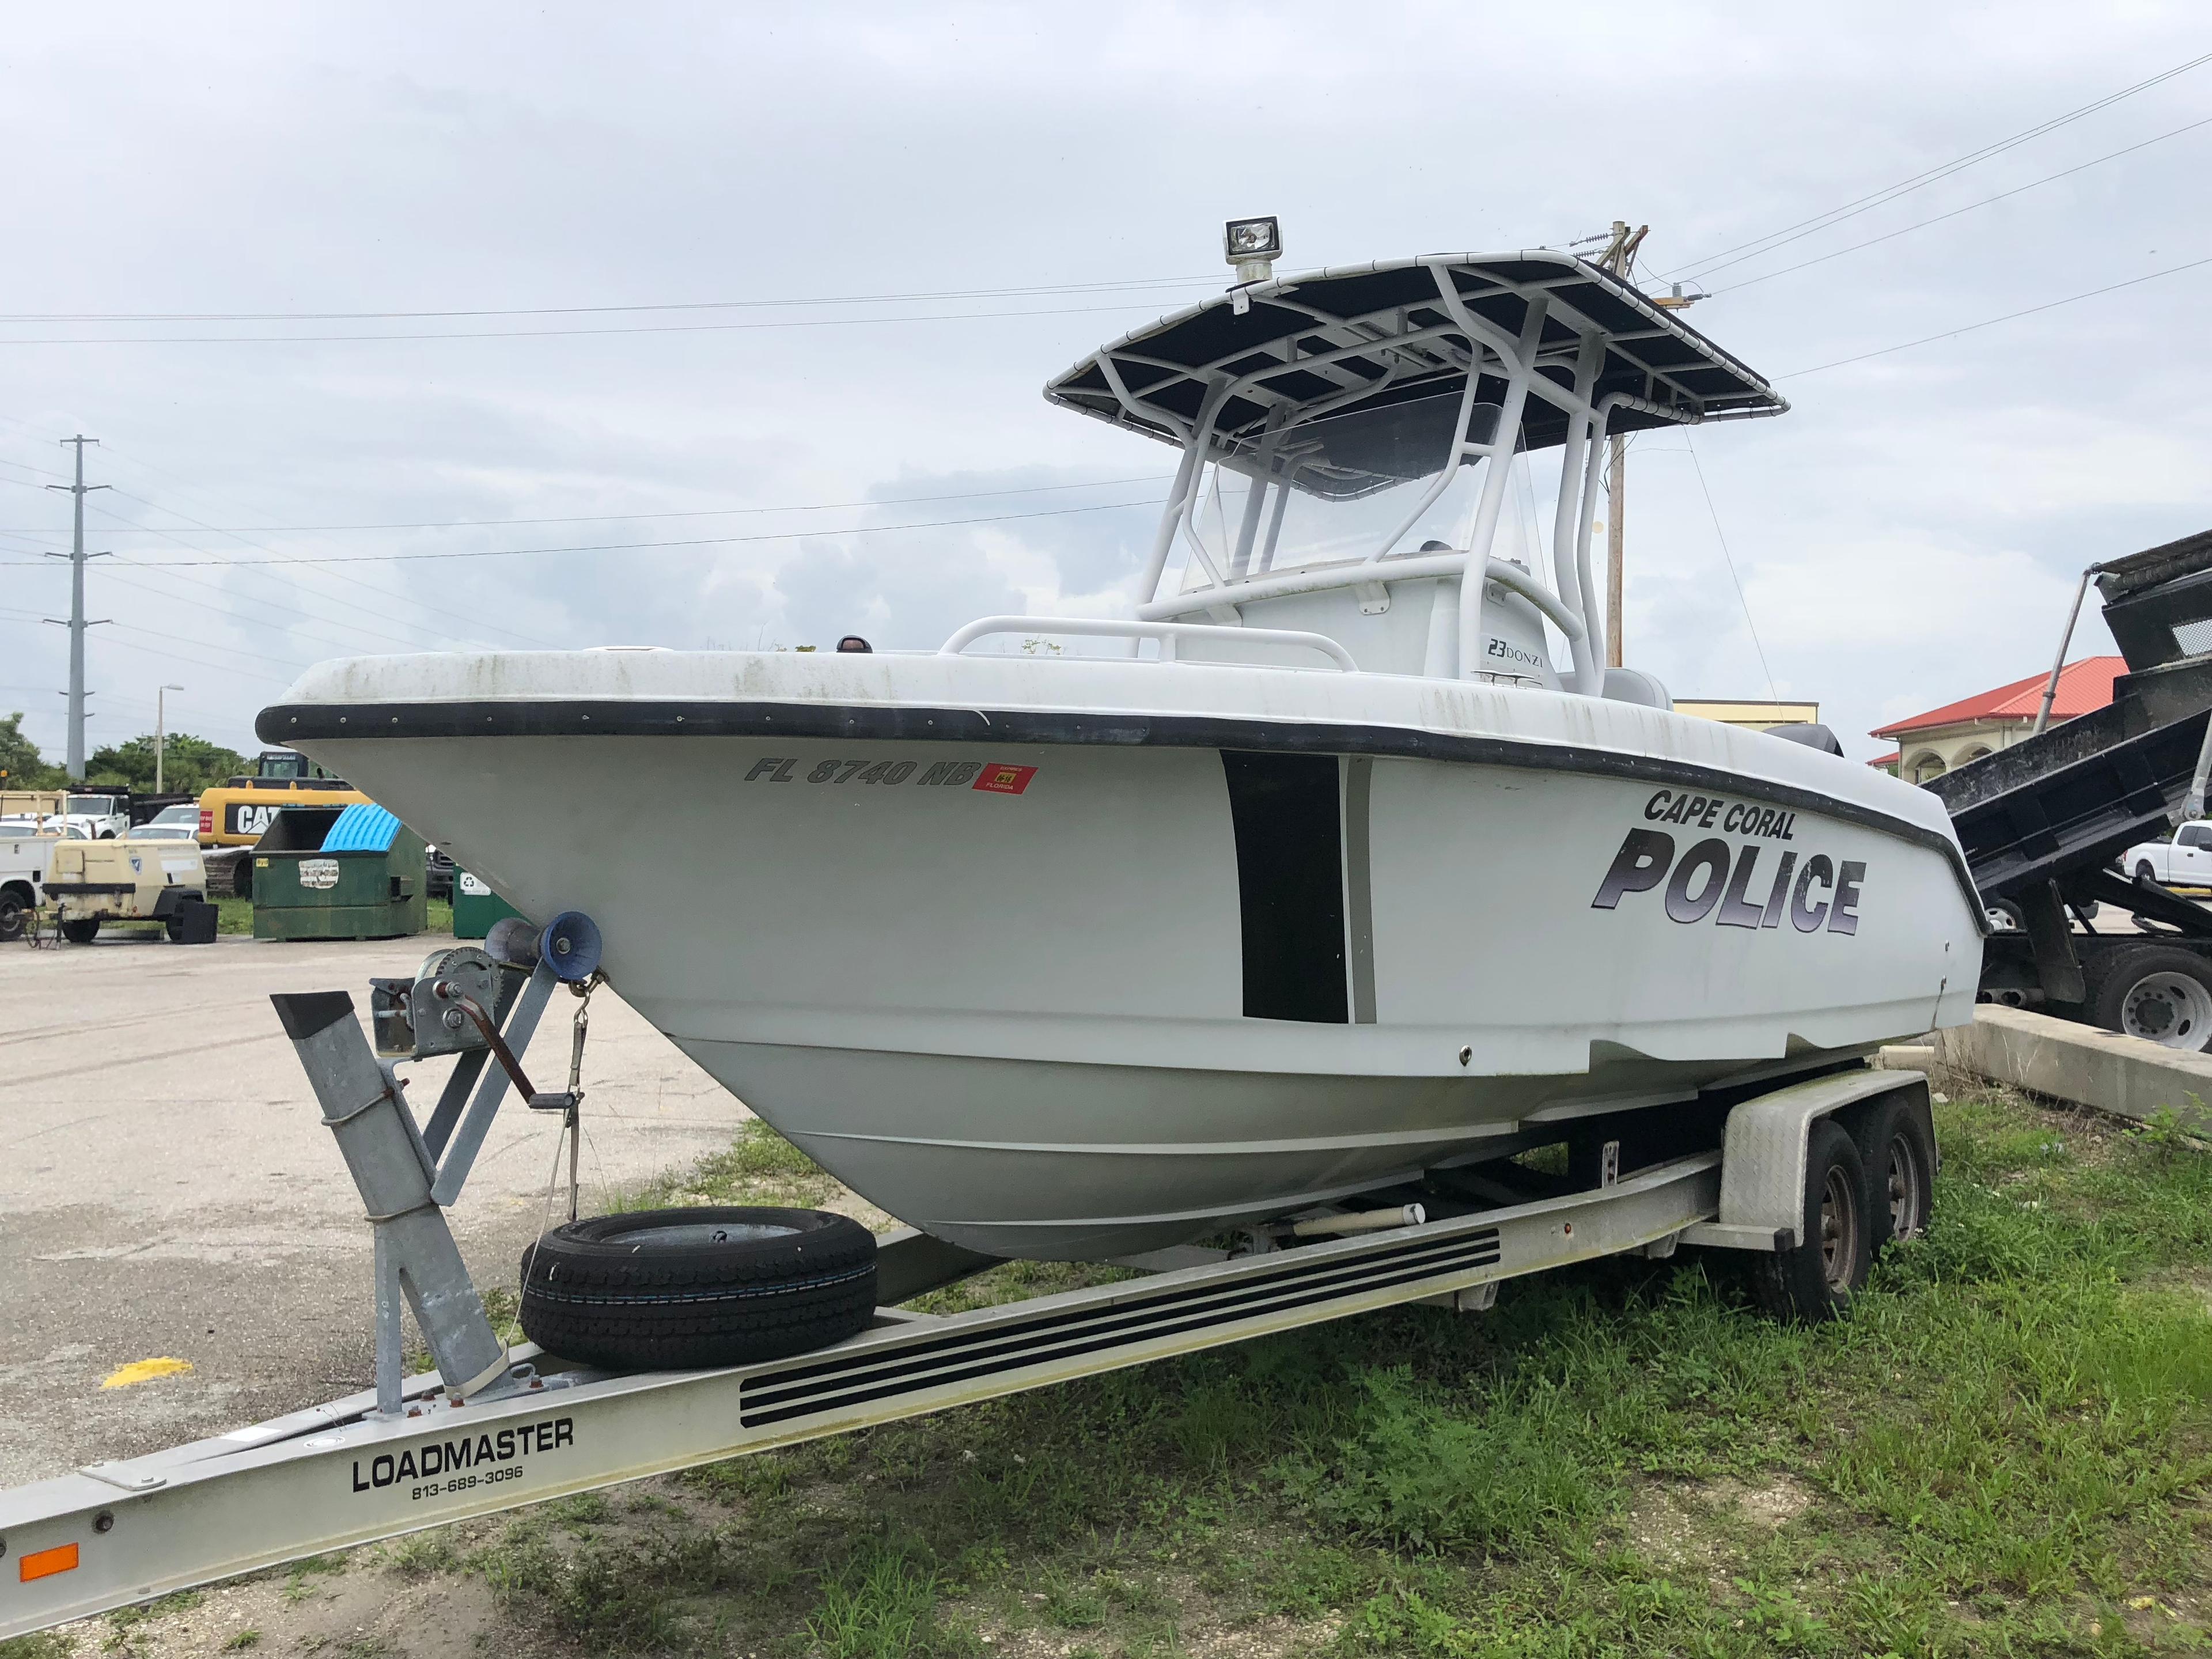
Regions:
[[[409,1378],[0,1493],[0,1637],[427,1526],[916,1418],[1639,1248],[1719,1214],[1721,1155],[1617,1186],[953,1316],[717,1371],[538,1376],[460,1400]],[[902,1263],[887,1245],[885,1276]],[[916,1239],[916,1252],[936,1248]]]

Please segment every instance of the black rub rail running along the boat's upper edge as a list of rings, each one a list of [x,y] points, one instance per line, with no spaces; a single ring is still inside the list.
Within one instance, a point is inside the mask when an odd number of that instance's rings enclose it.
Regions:
[[[1856,801],[1794,783],[1723,772],[1694,761],[1531,743],[1515,737],[1425,732],[1413,726],[1340,726],[1223,714],[1071,714],[1042,708],[889,708],[847,703],[728,703],[646,699],[544,699],[453,703],[276,703],[254,719],[263,743],[372,737],[830,737],[907,743],[1082,743],[1108,748],[1281,750],[1287,754],[1376,754],[1400,761],[1460,761],[1526,772],[1579,772],[1632,783],[1770,801],[1898,836],[1944,858],[1975,925],[1982,896],[1949,836]]]

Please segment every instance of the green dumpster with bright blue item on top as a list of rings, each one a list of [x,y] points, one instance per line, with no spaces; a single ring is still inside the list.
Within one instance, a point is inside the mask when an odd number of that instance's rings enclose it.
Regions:
[[[427,922],[422,836],[378,805],[285,807],[254,843],[254,938],[400,938]]]

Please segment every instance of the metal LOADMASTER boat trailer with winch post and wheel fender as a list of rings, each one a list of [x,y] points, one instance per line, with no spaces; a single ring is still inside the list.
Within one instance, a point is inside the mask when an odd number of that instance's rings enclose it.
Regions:
[[[878,1241],[878,1312],[849,1340],[759,1365],[608,1374],[529,1343],[502,1347],[445,1221],[509,1082],[524,1088],[526,1106],[564,1113],[575,1133],[580,1051],[571,1051],[571,1088],[555,1095],[526,1091],[520,1057],[553,991],[588,989],[597,929],[582,916],[542,933],[520,927],[524,936],[487,940],[489,951],[447,951],[414,982],[376,987],[378,1048],[405,1042],[416,1055],[460,1055],[425,1126],[389,1062],[369,1051],[349,995],[274,998],[374,1228],[374,1387],[0,1493],[0,1637],[334,1548],[1378,1307],[1480,1312],[1506,1279],[1597,1256],[1672,1256],[1683,1243],[1747,1250],[1763,1252],[1774,1283],[1787,1283],[1787,1263],[1818,1274],[1823,1250],[1838,1250],[1823,1210],[1834,1152],[1825,1164],[1809,1155],[1838,1139],[1820,1139],[1825,1124],[1843,1124],[1854,1141],[1874,1124],[1918,1124],[1920,1144],[1933,1148],[1920,1073],[1849,1066],[1778,1077],[1705,1097],[1721,1128],[1717,1144],[1690,1155],[1624,1175],[1621,1141],[1595,1144],[1595,1186],[1579,1192],[1515,1201],[1473,1170],[1442,1170],[1438,1179],[1467,1194],[1444,1206],[1455,1214],[1345,1206],[1245,1234],[1237,1250],[1186,1245],[1126,1259],[1141,1279],[964,1314],[902,1305],[998,1259],[902,1228]],[[535,964],[518,960],[518,945],[535,947]],[[1553,1128],[1531,1144],[1564,1135]],[[1867,1168],[1882,1168],[1878,1150],[1863,1146]],[[1931,1175],[1929,1161],[1913,1225],[1924,1219]],[[1876,1181],[1863,1190],[1880,1201]],[[1867,1221],[1863,1206],[1858,1228]],[[403,1298],[436,1363],[420,1376],[400,1374]]]

